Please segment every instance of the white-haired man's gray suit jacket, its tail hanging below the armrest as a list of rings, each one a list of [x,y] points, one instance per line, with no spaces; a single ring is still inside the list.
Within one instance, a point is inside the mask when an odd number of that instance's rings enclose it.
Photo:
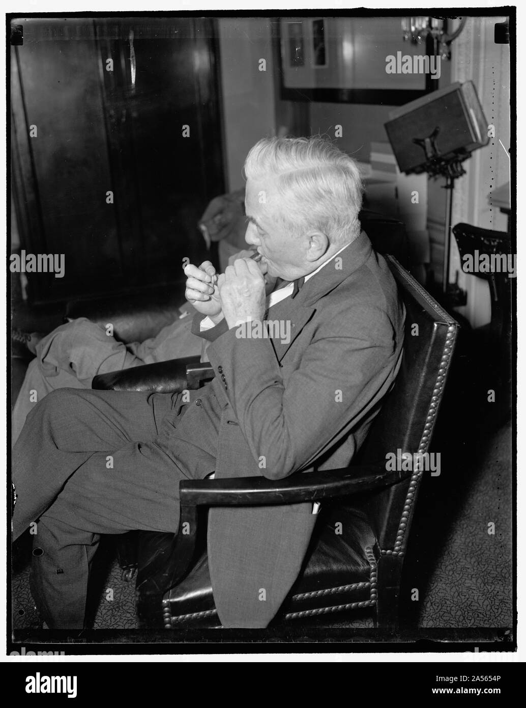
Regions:
[[[403,305],[363,232],[267,319],[290,322],[288,343],[238,338],[225,321],[201,333],[212,341],[209,385],[221,406],[216,479],[346,467],[399,368]],[[298,576],[315,520],[310,503],[210,510],[209,566],[224,627],[267,626]]]

